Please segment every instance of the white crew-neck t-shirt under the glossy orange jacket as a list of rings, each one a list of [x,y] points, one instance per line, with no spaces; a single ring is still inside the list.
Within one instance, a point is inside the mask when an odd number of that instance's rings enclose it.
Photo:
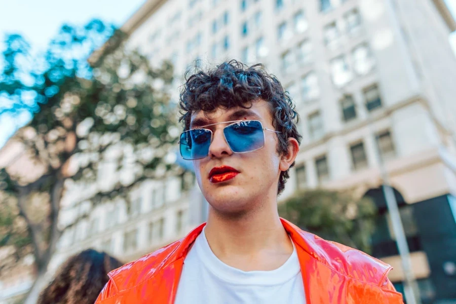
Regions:
[[[185,257],[175,304],[305,303],[296,248],[278,269],[241,271],[212,252],[204,229]]]

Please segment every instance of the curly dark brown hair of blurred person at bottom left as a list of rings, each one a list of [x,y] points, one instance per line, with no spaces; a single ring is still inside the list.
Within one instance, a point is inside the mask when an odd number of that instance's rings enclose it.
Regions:
[[[108,272],[122,264],[107,253],[93,249],[73,255],[42,291],[37,304],[93,304],[109,280]]]

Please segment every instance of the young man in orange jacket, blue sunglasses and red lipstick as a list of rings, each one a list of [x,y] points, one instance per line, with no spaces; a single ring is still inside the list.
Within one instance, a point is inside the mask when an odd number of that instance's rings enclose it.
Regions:
[[[301,136],[276,78],[225,62],[189,77],[180,106],[207,223],[112,271],[96,304],[402,303],[389,265],[279,217]]]

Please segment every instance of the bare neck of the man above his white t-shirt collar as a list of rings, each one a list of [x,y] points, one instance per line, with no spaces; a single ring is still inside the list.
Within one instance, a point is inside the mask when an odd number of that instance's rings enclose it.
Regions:
[[[205,233],[214,254],[222,261],[289,256],[293,246],[280,221],[277,198],[251,205],[255,210],[238,216],[226,216],[210,207]]]

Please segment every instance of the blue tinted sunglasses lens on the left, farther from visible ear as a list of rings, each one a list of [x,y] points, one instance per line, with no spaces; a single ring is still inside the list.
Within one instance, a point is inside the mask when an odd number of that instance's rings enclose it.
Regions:
[[[180,135],[180,155],[184,160],[197,160],[209,155],[212,133],[205,129],[194,129]]]

